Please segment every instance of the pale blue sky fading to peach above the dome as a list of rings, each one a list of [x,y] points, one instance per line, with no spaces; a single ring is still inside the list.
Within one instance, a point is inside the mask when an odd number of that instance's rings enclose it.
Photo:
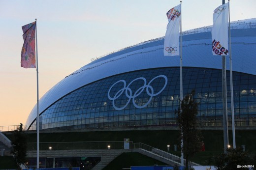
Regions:
[[[227,0],[226,0],[227,2]],[[180,0],[0,0],[0,127],[26,124],[36,69],[20,66],[22,26],[37,19],[39,98],[91,58],[165,35]],[[182,31],[210,26],[222,0],[183,0]],[[256,0],[230,0],[230,21],[256,18]]]

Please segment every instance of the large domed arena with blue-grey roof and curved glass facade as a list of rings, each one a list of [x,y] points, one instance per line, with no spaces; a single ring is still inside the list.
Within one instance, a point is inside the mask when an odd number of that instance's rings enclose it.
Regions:
[[[183,93],[195,89],[198,122],[223,118],[222,57],[212,55],[211,27],[183,32]],[[39,101],[43,129],[172,126],[179,106],[180,57],[163,56],[164,37],[97,58],[66,76]],[[231,23],[236,126],[256,125],[256,18]],[[229,61],[228,119],[231,122]],[[34,128],[36,106],[26,124]]]

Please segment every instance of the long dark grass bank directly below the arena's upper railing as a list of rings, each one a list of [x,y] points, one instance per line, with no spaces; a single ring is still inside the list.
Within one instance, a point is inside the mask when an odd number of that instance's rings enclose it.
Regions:
[[[232,131],[229,131],[229,143],[232,145]],[[222,130],[202,130],[206,151],[223,151]],[[10,136],[9,136],[10,137]],[[36,134],[28,134],[29,142],[36,142]],[[90,141],[123,141],[130,138],[133,142],[166,150],[170,144],[179,144],[178,130],[147,131],[101,131],[101,132],[68,132],[40,134],[40,142],[90,142]],[[256,151],[256,130],[236,130],[236,146],[246,145],[246,150]]]

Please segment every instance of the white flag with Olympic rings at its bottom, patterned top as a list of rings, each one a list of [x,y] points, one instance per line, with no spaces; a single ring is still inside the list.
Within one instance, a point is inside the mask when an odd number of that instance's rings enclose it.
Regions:
[[[167,30],[164,38],[163,54],[164,56],[179,56],[179,30],[181,18],[181,4],[171,8],[166,16],[168,18]]]

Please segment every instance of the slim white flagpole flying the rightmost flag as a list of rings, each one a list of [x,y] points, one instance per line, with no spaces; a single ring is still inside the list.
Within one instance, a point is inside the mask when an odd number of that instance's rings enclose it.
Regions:
[[[230,12],[228,0],[228,33],[229,33],[229,67],[230,67],[230,94],[231,94],[231,116],[232,116],[232,136],[233,148],[235,149],[235,117],[234,117],[234,96],[233,96],[233,75],[232,75],[232,57],[231,57],[231,32],[230,32]]]

